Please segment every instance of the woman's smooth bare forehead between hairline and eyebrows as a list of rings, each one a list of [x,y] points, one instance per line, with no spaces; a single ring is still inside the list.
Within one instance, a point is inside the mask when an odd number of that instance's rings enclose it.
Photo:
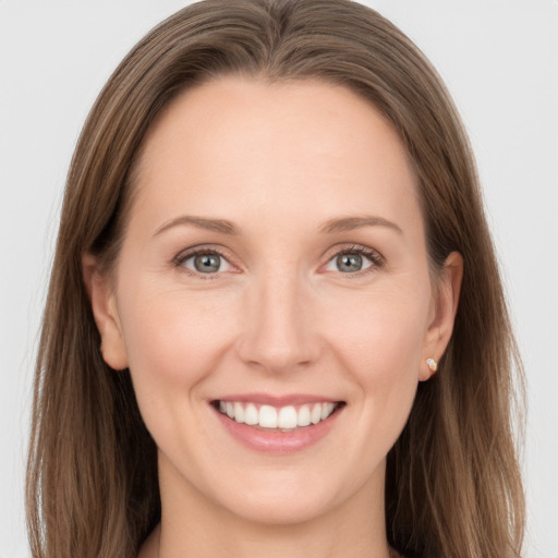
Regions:
[[[391,124],[353,92],[314,81],[223,77],[189,89],[149,130],[135,187],[161,214],[239,219],[248,208],[279,220],[299,209],[310,222],[333,205],[386,217],[418,207]]]

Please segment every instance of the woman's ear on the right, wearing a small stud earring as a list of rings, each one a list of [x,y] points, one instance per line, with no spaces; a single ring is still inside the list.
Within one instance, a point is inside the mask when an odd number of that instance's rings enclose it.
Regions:
[[[459,293],[463,279],[463,257],[459,252],[452,252],[446,259],[438,278],[430,323],[423,347],[423,359],[418,379],[429,379],[436,371],[430,369],[426,359],[439,361],[448,347],[453,331],[453,323],[458,311]]]

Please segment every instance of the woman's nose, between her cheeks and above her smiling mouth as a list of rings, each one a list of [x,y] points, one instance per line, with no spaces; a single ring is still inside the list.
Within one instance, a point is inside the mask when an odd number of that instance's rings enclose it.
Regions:
[[[292,274],[292,270],[291,270]],[[314,363],[322,350],[310,286],[295,277],[260,281],[246,292],[239,356],[270,373],[296,371]]]

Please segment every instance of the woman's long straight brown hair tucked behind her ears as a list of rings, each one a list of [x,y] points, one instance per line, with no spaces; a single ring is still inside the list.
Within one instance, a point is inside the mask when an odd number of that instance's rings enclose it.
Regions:
[[[37,360],[33,556],[132,557],[160,519],[155,442],[129,372],[102,361],[82,257],[94,253],[110,268],[147,129],[180,92],[225,74],[345,86],[400,134],[433,269],[459,251],[465,271],[448,350],[388,456],[388,541],[407,556],[519,556],[524,502],[512,422],[521,363],[468,138],[420,50],[348,0],[192,4],[141,40],[99,95],[68,177]]]

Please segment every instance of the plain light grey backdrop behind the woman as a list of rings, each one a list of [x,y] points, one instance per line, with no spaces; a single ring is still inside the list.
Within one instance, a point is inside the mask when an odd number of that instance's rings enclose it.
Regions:
[[[0,558],[29,556],[32,374],[73,147],[117,63],[185,3],[0,0]],[[525,556],[557,558],[558,1],[366,3],[430,58],[471,135],[529,380]]]

